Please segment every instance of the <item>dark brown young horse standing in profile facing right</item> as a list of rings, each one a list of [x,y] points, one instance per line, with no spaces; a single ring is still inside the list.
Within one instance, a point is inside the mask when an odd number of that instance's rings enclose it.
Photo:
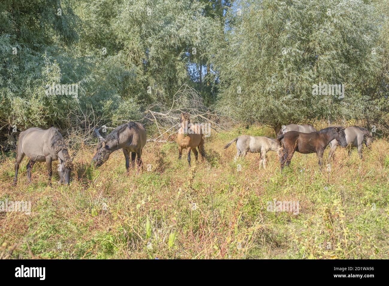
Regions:
[[[340,145],[346,146],[346,138],[343,128],[328,127],[316,132],[302,133],[289,131],[285,134],[278,135],[277,140],[282,145],[283,156],[281,161],[281,170],[286,163],[289,166],[294,151],[303,154],[316,153],[319,158],[319,166],[323,158],[324,149],[329,142],[336,139]]]

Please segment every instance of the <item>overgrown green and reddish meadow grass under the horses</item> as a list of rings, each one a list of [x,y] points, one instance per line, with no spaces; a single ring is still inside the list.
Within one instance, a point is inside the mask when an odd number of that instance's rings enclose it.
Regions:
[[[94,169],[93,148],[74,150],[68,187],[56,184],[57,174],[47,186],[40,163],[26,184],[27,159],[12,186],[14,154],[7,154],[0,201],[31,201],[32,212],[0,212],[2,250],[22,242],[13,257],[389,257],[387,140],[365,147],[363,160],[355,149],[349,157],[338,148],[330,172],[319,169],[314,154],[296,153],[281,174],[274,152],[266,170],[259,168],[258,154],[234,162],[235,144],[223,147],[242,133],[274,136],[259,127],[212,134],[205,142],[207,159],[195,162],[192,156],[191,169],[184,154],[177,159],[175,144],[147,143],[144,170],[129,175],[121,151]],[[267,211],[274,199],[298,201],[299,213]]]

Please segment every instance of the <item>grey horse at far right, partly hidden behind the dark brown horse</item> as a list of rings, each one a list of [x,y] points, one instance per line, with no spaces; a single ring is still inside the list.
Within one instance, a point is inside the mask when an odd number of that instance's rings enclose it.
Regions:
[[[351,148],[357,147],[359,158],[362,159],[362,145],[363,143],[367,146],[373,142],[373,134],[367,130],[366,128],[359,126],[350,126],[344,130],[346,134],[346,143],[349,147],[349,156],[351,154]],[[335,152],[336,147],[338,147],[339,143],[336,139],[329,142],[329,154],[328,159],[331,158],[332,154]]]

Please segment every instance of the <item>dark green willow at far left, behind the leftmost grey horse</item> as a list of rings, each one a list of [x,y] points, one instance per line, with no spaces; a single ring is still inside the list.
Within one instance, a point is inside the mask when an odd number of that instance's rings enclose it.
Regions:
[[[72,1],[0,3],[0,130],[67,116],[71,96],[47,96],[45,86],[61,82],[59,63],[72,59],[65,50],[78,39],[76,26]]]

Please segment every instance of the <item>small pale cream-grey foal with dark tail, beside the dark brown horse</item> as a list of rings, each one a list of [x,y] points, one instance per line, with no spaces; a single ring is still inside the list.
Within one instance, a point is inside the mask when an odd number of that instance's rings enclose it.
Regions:
[[[233,142],[237,142],[237,155],[235,160],[240,156],[246,156],[246,153],[259,153],[259,165],[263,165],[263,168],[266,169],[266,153],[269,150],[277,152],[277,155],[281,157],[282,147],[278,145],[278,142],[262,136],[250,136],[250,135],[240,135],[239,137],[233,139],[230,143],[224,146],[224,149],[227,149]]]

